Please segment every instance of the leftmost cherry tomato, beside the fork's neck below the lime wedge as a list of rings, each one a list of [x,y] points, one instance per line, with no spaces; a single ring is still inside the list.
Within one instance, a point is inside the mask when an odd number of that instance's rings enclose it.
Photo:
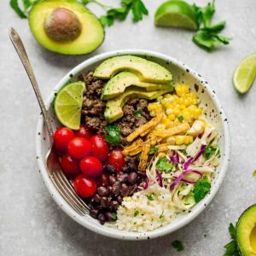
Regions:
[[[66,151],[67,145],[75,137],[73,131],[67,127],[61,127],[55,131],[54,143],[55,148],[60,151]]]

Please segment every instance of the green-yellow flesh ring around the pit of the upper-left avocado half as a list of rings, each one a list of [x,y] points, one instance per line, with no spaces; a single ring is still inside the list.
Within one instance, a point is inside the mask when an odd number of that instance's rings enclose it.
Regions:
[[[81,25],[78,37],[68,41],[57,41],[45,32],[45,20],[55,9],[67,9]],[[76,0],[41,0],[34,3],[29,14],[29,25],[33,36],[44,48],[64,55],[83,55],[98,48],[104,40],[104,29],[96,16]],[[68,29],[67,24],[66,28]]]

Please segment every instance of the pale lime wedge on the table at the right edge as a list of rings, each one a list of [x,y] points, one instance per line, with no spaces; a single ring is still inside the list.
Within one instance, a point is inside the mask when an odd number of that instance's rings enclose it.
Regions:
[[[256,53],[247,56],[236,67],[233,75],[233,84],[235,89],[241,93],[246,93],[253,84],[256,76]]]

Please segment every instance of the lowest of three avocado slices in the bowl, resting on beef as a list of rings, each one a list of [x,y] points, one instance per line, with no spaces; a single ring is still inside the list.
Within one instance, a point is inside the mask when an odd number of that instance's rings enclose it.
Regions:
[[[131,86],[127,88],[124,93],[114,98],[113,100],[109,100],[107,102],[104,117],[108,121],[108,123],[113,123],[114,121],[120,119],[124,115],[123,106],[125,105],[125,102],[128,99],[138,97],[153,100],[170,90],[172,90],[172,87],[165,90],[145,91],[142,88]]]

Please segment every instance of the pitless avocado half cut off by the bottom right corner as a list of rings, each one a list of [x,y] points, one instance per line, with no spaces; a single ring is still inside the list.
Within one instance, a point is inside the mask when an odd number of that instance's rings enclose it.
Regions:
[[[256,205],[242,212],[236,224],[236,239],[241,255],[256,256]]]

